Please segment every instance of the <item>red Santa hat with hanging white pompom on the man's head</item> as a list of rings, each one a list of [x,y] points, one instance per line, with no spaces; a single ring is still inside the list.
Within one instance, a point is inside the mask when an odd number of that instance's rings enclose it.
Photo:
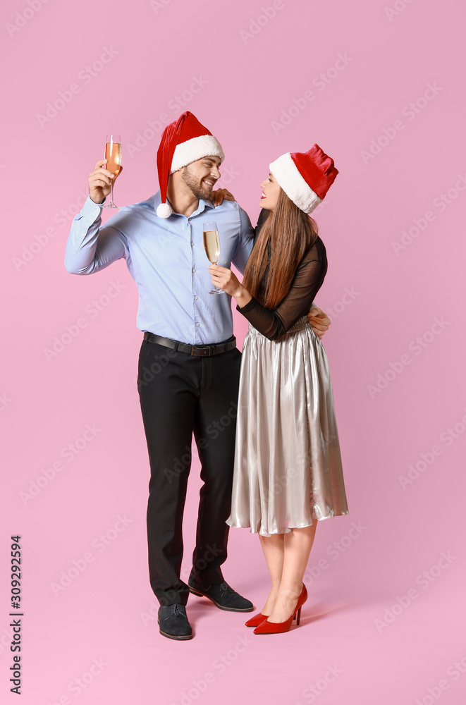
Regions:
[[[157,152],[161,196],[161,203],[157,207],[159,218],[168,218],[173,213],[171,205],[166,202],[170,174],[202,157],[220,157],[223,161],[225,154],[219,140],[190,111],[186,111],[178,120],[167,125],[161,136]]]

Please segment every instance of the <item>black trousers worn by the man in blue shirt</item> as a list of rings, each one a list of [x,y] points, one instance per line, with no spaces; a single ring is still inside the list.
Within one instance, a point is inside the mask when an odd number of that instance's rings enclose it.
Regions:
[[[141,345],[137,388],[151,471],[149,578],[164,606],[188,601],[180,568],[193,433],[204,484],[190,577],[206,588],[223,582],[220,566],[227,556],[240,361],[238,348],[197,357],[149,341]]]

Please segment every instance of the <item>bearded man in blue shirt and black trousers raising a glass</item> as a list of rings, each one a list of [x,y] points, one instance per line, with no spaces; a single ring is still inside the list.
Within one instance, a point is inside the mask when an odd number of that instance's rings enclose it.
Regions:
[[[122,208],[100,228],[113,175],[104,168],[105,159],[98,161],[89,177],[90,196],[73,219],[66,245],[70,273],[92,274],[125,257],[139,290],[137,327],[145,335],[137,387],[151,467],[149,577],[160,603],[159,630],[171,639],[192,637],[185,612],[190,592],[222,610],[253,609],[221,572],[227,556],[241,355],[230,296],[209,295],[202,223],[217,223],[219,264],[233,262],[242,273],[254,234],[238,203],[223,200],[214,206],[210,201],[223,159],[218,140],[189,111],[183,113],[161,137],[160,191]],[[323,314],[316,333],[321,336],[329,322]],[[180,580],[182,522],[193,433],[204,484],[185,584]]]

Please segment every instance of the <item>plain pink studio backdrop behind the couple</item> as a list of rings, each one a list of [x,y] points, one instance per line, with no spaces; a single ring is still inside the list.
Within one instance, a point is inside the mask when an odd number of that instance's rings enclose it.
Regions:
[[[2,5],[3,702],[17,701],[15,533],[24,704],[465,701],[465,15],[459,0]],[[68,102],[38,117],[60,92]],[[158,188],[159,116],[186,109],[221,141],[223,183],[254,223],[259,183],[283,152],[317,142],[340,171],[314,215],[329,257],[317,302],[332,319],[323,342],[350,515],[319,524],[302,625],[266,639],[195,597],[195,639],[159,635],[137,290],[123,261],[90,277],[63,266],[106,133],[123,140],[116,202],[137,202]],[[47,360],[78,319],[79,334]],[[240,345],[236,314],[235,331]],[[199,487],[196,459],[183,577]],[[260,608],[257,537],[232,530],[229,547],[226,580]]]

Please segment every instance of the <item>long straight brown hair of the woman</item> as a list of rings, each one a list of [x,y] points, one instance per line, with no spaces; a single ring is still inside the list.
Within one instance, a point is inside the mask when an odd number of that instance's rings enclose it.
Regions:
[[[276,209],[260,229],[247,260],[244,286],[266,308],[275,309],[286,297],[306,250],[316,240],[316,221],[280,189]]]

